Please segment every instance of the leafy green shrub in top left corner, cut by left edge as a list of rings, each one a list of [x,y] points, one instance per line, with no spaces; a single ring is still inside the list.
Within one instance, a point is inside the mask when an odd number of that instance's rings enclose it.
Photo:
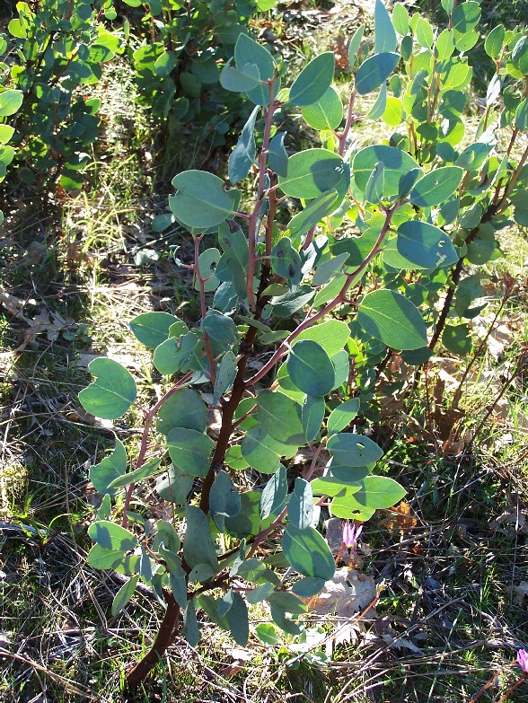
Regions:
[[[82,187],[101,107],[86,87],[122,43],[103,23],[111,8],[111,0],[21,2],[0,34],[0,82],[22,98],[11,137],[22,182]]]

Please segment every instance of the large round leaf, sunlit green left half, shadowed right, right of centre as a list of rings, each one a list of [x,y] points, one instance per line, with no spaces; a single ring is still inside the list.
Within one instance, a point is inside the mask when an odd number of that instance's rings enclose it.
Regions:
[[[427,345],[427,329],[416,305],[395,291],[379,288],[366,294],[357,311],[359,324],[387,347],[419,349]]]

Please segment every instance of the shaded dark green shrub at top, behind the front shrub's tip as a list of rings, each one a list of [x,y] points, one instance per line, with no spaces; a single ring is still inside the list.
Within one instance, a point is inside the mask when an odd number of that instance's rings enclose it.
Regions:
[[[167,120],[170,131],[182,123],[205,127],[213,132],[213,147],[224,145],[247,101],[224,90],[220,65],[233,59],[236,40],[257,13],[277,0],[124,2],[137,8],[128,17],[140,104]]]

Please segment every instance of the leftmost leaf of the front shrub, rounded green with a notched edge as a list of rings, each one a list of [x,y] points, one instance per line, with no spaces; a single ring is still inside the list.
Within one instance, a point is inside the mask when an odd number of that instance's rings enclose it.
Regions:
[[[136,400],[136,382],[132,374],[113,359],[101,356],[88,365],[96,380],[79,393],[83,408],[105,420],[124,415]]]

